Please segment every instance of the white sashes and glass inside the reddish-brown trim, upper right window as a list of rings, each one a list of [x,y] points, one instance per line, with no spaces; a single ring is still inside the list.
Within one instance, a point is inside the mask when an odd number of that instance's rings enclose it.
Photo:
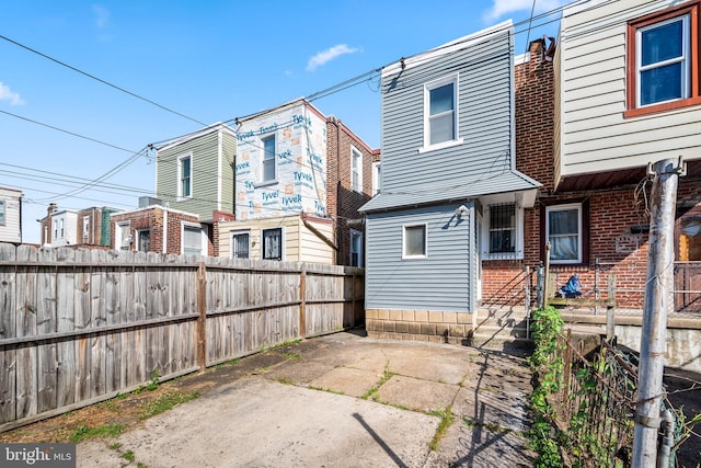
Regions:
[[[690,95],[689,14],[636,30],[637,105]]]

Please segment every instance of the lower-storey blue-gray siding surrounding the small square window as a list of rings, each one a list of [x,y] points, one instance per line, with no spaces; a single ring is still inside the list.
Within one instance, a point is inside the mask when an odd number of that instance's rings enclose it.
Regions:
[[[474,228],[470,214],[457,224],[460,203],[367,217],[366,308],[471,310]],[[426,224],[425,259],[402,259],[403,226]]]

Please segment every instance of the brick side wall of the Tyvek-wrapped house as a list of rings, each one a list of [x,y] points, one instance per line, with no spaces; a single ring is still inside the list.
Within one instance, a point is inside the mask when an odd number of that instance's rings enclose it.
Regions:
[[[363,193],[353,190],[350,147],[363,155]],[[372,162],[379,161],[379,150],[368,147],[358,136],[335,117],[326,119],[326,213],[334,220],[334,241],[338,246],[335,263],[350,264],[350,226],[364,231],[358,208],[371,198]]]

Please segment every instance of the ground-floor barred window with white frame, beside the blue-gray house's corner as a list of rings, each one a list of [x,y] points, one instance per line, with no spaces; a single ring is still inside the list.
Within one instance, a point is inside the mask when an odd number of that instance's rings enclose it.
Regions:
[[[485,260],[524,258],[524,209],[516,203],[484,207],[482,256]]]

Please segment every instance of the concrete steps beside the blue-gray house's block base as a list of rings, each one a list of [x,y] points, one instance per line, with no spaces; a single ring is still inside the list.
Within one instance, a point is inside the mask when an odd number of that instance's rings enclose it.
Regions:
[[[496,351],[531,349],[528,315],[524,309],[478,309],[470,345]]]

